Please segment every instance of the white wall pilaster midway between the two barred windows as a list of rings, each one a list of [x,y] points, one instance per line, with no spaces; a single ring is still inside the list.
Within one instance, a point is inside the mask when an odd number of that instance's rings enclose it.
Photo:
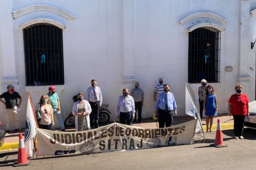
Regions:
[[[134,0],[123,0],[123,79],[134,83]]]

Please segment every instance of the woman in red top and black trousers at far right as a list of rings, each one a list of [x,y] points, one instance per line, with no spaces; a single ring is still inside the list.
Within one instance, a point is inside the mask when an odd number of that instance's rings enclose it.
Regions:
[[[242,86],[236,85],[236,94],[230,96],[228,102],[228,115],[234,118],[235,139],[244,139],[242,136],[244,130],[244,117],[249,116],[249,99],[242,94]]]

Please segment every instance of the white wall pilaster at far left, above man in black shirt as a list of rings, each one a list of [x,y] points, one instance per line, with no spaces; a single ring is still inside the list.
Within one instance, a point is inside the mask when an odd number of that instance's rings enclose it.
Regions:
[[[6,91],[6,85],[17,85],[17,74],[14,52],[14,35],[12,19],[12,0],[2,0],[0,7],[0,41],[3,59],[2,91]]]

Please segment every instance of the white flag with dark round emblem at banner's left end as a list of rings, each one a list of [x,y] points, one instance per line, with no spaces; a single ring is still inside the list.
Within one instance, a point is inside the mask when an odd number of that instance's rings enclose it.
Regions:
[[[27,104],[27,112],[26,112],[26,127],[25,127],[25,138],[24,138],[24,144],[26,148],[27,156],[32,156],[32,149],[34,146],[33,138],[35,137],[35,117],[33,113],[33,109],[30,103],[30,100],[28,98],[28,104]]]

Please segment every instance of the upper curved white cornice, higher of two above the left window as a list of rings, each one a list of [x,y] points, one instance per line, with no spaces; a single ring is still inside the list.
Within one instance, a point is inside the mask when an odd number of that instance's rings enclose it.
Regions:
[[[13,17],[13,19],[15,19],[17,17],[23,16],[25,14],[29,14],[29,13],[32,13],[35,11],[48,11],[48,12],[58,14],[61,17],[66,18],[67,20],[75,19],[75,17],[73,17],[71,14],[67,13],[66,11],[63,11],[63,10],[53,7],[53,6],[42,5],[42,4],[28,6],[28,7],[16,10],[16,11],[12,11],[12,17]]]

